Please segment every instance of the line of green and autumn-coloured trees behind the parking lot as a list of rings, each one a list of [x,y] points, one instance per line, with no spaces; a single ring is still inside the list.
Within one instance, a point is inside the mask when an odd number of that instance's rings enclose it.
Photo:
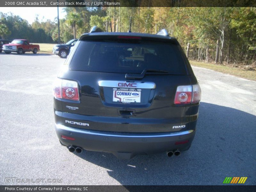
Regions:
[[[255,7],[66,7],[60,40],[67,42],[97,25],[108,32],[152,33],[165,28],[189,59],[231,64],[256,60]],[[0,35],[35,43],[58,41],[57,19],[29,25],[13,14],[0,13]]]

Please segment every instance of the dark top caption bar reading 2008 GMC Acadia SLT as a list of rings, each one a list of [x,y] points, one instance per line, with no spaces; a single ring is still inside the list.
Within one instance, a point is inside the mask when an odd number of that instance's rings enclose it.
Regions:
[[[0,7],[56,7],[57,0],[1,0]],[[255,7],[255,0],[59,0],[59,7]]]

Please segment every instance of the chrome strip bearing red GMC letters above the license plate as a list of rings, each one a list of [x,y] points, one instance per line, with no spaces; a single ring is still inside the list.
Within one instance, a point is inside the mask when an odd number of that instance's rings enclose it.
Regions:
[[[136,83],[136,87],[133,86],[128,86],[128,87],[123,87],[123,86],[118,86],[120,83],[125,83],[125,84],[131,84],[131,83]],[[156,84],[152,82],[138,82],[138,81],[108,81],[108,80],[102,80],[98,82],[99,86],[102,87],[121,87],[121,88],[137,88],[137,89],[155,89]]]

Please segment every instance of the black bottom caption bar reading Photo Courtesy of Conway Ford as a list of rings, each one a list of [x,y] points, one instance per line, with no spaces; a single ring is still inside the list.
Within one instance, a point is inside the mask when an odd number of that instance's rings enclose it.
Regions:
[[[81,189],[81,190],[79,190]],[[180,186],[171,186],[171,185],[160,185],[160,186],[151,186],[151,185],[2,185],[0,186],[1,192],[208,192],[208,191],[221,191],[221,192],[243,192],[243,191],[255,191],[255,185],[180,185]]]

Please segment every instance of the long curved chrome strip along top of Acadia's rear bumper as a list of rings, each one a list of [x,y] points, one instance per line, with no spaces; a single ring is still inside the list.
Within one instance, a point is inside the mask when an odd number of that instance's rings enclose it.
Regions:
[[[100,131],[89,131],[89,130],[81,130],[81,129],[77,129],[77,128],[73,128],[73,127],[67,127],[61,124],[55,124],[55,126],[58,129],[62,129],[62,130],[66,130],[66,131],[70,131],[70,132],[77,132],[77,133],[82,133],[82,134],[89,134],[89,135],[99,135],[99,136],[106,136],[106,137],[130,137],[130,138],[145,138],[145,137],[170,137],[170,136],[180,136],[180,135],[186,135],[189,133],[194,132],[194,130],[188,130],[188,131],[182,131],[182,132],[176,132],[176,133],[168,133],[168,134],[162,134],[162,133],[154,133],[154,135],[152,135],[153,133],[146,133],[148,135],[145,135],[145,133],[124,133],[124,134],[108,134],[108,133],[100,133]],[[136,134],[136,135],[132,135],[132,134]],[[141,134],[141,135],[139,135]]]

